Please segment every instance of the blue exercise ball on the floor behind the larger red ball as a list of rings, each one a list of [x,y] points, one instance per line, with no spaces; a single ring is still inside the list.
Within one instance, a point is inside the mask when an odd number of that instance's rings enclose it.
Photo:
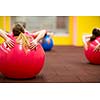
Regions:
[[[44,51],[50,51],[53,47],[53,40],[49,35],[46,35],[41,43]]]

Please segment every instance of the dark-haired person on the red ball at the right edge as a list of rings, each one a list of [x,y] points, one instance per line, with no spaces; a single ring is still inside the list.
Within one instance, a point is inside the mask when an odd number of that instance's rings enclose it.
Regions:
[[[91,41],[95,40],[99,36],[100,36],[99,28],[94,28],[92,31],[92,34],[90,34],[90,35],[83,35],[84,48],[87,50],[89,43]],[[100,43],[98,43],[98,45],[95,47],[94,51],[100,51]]]

